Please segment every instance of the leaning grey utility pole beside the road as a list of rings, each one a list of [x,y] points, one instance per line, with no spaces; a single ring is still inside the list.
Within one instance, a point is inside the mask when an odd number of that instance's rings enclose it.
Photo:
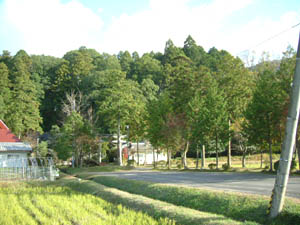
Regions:
[[[286,193],[293,149],[295,145],[298,117],[300,107],[300,34],[298,50],[296,56],[296,69],[293,79],[291,100],[289,105],[288,117],[286,121],[285,137],[283,149],[280,155],[279,169],[273,189],[273,199],[271,199],[270,218],[275,218],[281,212]]]

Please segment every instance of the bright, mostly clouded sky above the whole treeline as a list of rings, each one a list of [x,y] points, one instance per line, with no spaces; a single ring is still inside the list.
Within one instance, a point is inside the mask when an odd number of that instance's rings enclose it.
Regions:
[[[299,0],[0,0],[0,52],[143,54],[163,52],[169,38],[183,46],[190,34],[206,50],[276,58],[297,47],[300,26],[256,45],[298,23]]]

